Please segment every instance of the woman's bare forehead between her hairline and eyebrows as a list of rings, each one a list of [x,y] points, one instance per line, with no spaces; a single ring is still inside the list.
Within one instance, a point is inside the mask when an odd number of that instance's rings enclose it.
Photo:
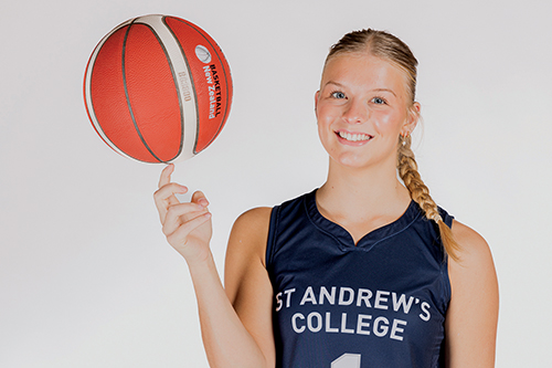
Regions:
[[[408,76],[395,63],[369,53],[341,53],[331,56],[323,69],[321,87],[327,83],[391,88],[402,93]]]

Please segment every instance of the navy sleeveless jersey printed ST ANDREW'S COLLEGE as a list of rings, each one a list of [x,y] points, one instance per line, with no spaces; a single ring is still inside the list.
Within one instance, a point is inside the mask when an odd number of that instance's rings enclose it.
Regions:
[[[364,235],[320,214],[316,190],[273,209],[266,267],[276,367],[442,367],[450,299],[438,227],[411,202]],[[453,218],[440,214],[448,225]]]

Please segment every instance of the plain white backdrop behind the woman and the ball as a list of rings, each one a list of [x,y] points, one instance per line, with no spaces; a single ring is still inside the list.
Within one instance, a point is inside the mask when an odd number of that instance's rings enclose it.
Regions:
[[[0,366],[206,367],[185,262],[152,201],[162,166],[112,151],[83,74],[118,23],[205,29],[234,78],[226,127],[174,179],[211,201],[212,250],[248,208],[320,186],[314,116],[328,48],[391,31],[420,61],[422,177],[489,242],[497,367],[551,367],[552,6],[548,1],[4,1],[0,6]]]

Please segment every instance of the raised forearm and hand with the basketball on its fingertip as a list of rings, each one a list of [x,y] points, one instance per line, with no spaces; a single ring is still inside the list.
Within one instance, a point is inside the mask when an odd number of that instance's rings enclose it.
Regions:
[[[170,182],[173,169],[170,165],[162,171],[155,200],[167,240],[189,265],[209,362],[213,368],[265,367],[258,337],[254,338],[245,328],[219,277],[209,248],[212,233],[209,202],[203,193],[195,192],[191,202],[180,203],[174,194],[188,189]],[[234,228],[240,229],[237,221]]]

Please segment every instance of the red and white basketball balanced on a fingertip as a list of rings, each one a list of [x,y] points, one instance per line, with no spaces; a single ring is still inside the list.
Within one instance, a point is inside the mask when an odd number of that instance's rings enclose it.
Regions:
[[[99,41],[84,77],[88,117],[118,154],[173,162],[205,149],[232,104],[230,66],[216,42],[176,17],[130,19]]]

